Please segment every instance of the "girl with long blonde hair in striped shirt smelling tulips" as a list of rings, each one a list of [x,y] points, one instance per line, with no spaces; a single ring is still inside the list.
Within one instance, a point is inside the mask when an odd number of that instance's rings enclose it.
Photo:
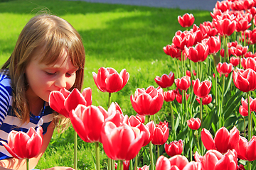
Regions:
[[[45,152],[54,128],[68,123],[49,107],[50,91],[81,90],[84,65],[85,50],[73,26],[58,16],[40,15],[28,21],[14,52],[1,68],[0,140],[6,142],[11,130],[43,128],[43,146],[30,159],[31,168]],[[0,144],[0,170],[25,167],[26,160],[11,157]]]

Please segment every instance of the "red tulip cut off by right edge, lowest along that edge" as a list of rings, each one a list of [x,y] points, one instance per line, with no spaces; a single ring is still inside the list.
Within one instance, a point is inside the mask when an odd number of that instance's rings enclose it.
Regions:
[[[238,158],[247,160],[249,162],[256,159],[256,137],[252,136],[252,139],[247,142],[245,137],[239,136],[238,146],[235,150],[238,152]]]

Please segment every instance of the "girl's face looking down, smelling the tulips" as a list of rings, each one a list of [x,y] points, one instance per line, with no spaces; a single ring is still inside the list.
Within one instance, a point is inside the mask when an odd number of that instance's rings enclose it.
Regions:
[[[50,91],[59,91],[63,88],[69,90],[75,84],[75,72],[78,68],[72,64],[66,50],[63,50],[60,59],[52,65],[40,63],[40,55],[41,53],[36,52],[26,67],[26,95],[29,98],[39,97],[43,101],[48,101]]]

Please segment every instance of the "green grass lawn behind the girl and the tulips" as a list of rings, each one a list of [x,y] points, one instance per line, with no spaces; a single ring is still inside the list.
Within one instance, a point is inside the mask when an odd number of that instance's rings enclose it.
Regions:
[[[120,72],[127,69],[127,86],[115,94],[124,114],[136,114],[129,96],[137,88],[155,86],[156,75],[175,72],[173,60],[162,48],[171,44],[177,30],[184,30],[177,21],[183,13],[193,13],[196,25],[211,21],[209,11],[180,10],[178,8],[151,8],[117,4],[92,4],[84,1],[0,1],[0,64],[11,55],[23,26],[36,13],[48,11],[70,22],[82,36],[85,46],[84,87],[92,88],[95,106],[107,108],[107,93],[97,89],[92,72],[100,67],[113,67]],[[164,111],[159,112],[159,116]],[[79,140],[78,167],[93,169],[94,145]],[[102,151],[102,149],[101,149]],[[106,156],[102,154],[102,165]],[[46,153],[37,168],[73,166],[73,128],[53,135]]]

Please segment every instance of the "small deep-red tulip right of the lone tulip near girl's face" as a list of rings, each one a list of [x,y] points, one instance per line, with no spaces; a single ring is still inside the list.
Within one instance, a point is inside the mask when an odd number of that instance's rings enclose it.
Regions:
[[[156,84],[161,86],[161,88],[170,87],[174,84],[174,73],[170,72],[169,75],[163,74],[161,77],[156,76],[154,81],[156,81]]]

